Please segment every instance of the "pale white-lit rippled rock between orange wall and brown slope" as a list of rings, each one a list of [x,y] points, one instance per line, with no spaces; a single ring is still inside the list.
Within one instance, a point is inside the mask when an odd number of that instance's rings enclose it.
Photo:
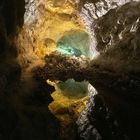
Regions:
[[[120,7],[131,1],[139,0],[81,0],[79,3],[80,16],[83,19],[86,28],[91,35],[91,49],[93,57],[99,53],[95,49],[97,45],[96,35],[94,33],[93,22],[104,16],[111,9]]]

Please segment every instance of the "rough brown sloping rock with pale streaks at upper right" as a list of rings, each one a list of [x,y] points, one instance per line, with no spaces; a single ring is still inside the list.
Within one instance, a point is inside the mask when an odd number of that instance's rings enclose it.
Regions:
[[[97,49],[101,55],[93,60],[93,64],[91,63],[91,68],[96,65],[108,73],[110,71],[112,75],[121,75],[122,81],[129,81],[127,86],[133,88],[135,85],[138,89],[140,71],[139,9],[139,2],[127,3],[109,11],[93,23],[98,42]]]

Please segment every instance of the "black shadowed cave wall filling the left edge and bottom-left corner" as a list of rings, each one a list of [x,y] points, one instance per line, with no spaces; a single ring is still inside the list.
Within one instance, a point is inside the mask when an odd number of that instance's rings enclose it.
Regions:
[[[22,79],[17,36],[24,12],[24,0],[0,1],[0,140],[59,139],[59,123],[48,109],[54,88],[37,77]]]

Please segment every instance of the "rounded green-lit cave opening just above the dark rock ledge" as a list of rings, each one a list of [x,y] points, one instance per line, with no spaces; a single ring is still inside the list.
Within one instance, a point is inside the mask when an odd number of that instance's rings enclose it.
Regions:
[[[85,31],[70,30],[65,32],[57,41],[57,51],[69,55],[80,56],[84,55],[90,58],[90,38]]]

